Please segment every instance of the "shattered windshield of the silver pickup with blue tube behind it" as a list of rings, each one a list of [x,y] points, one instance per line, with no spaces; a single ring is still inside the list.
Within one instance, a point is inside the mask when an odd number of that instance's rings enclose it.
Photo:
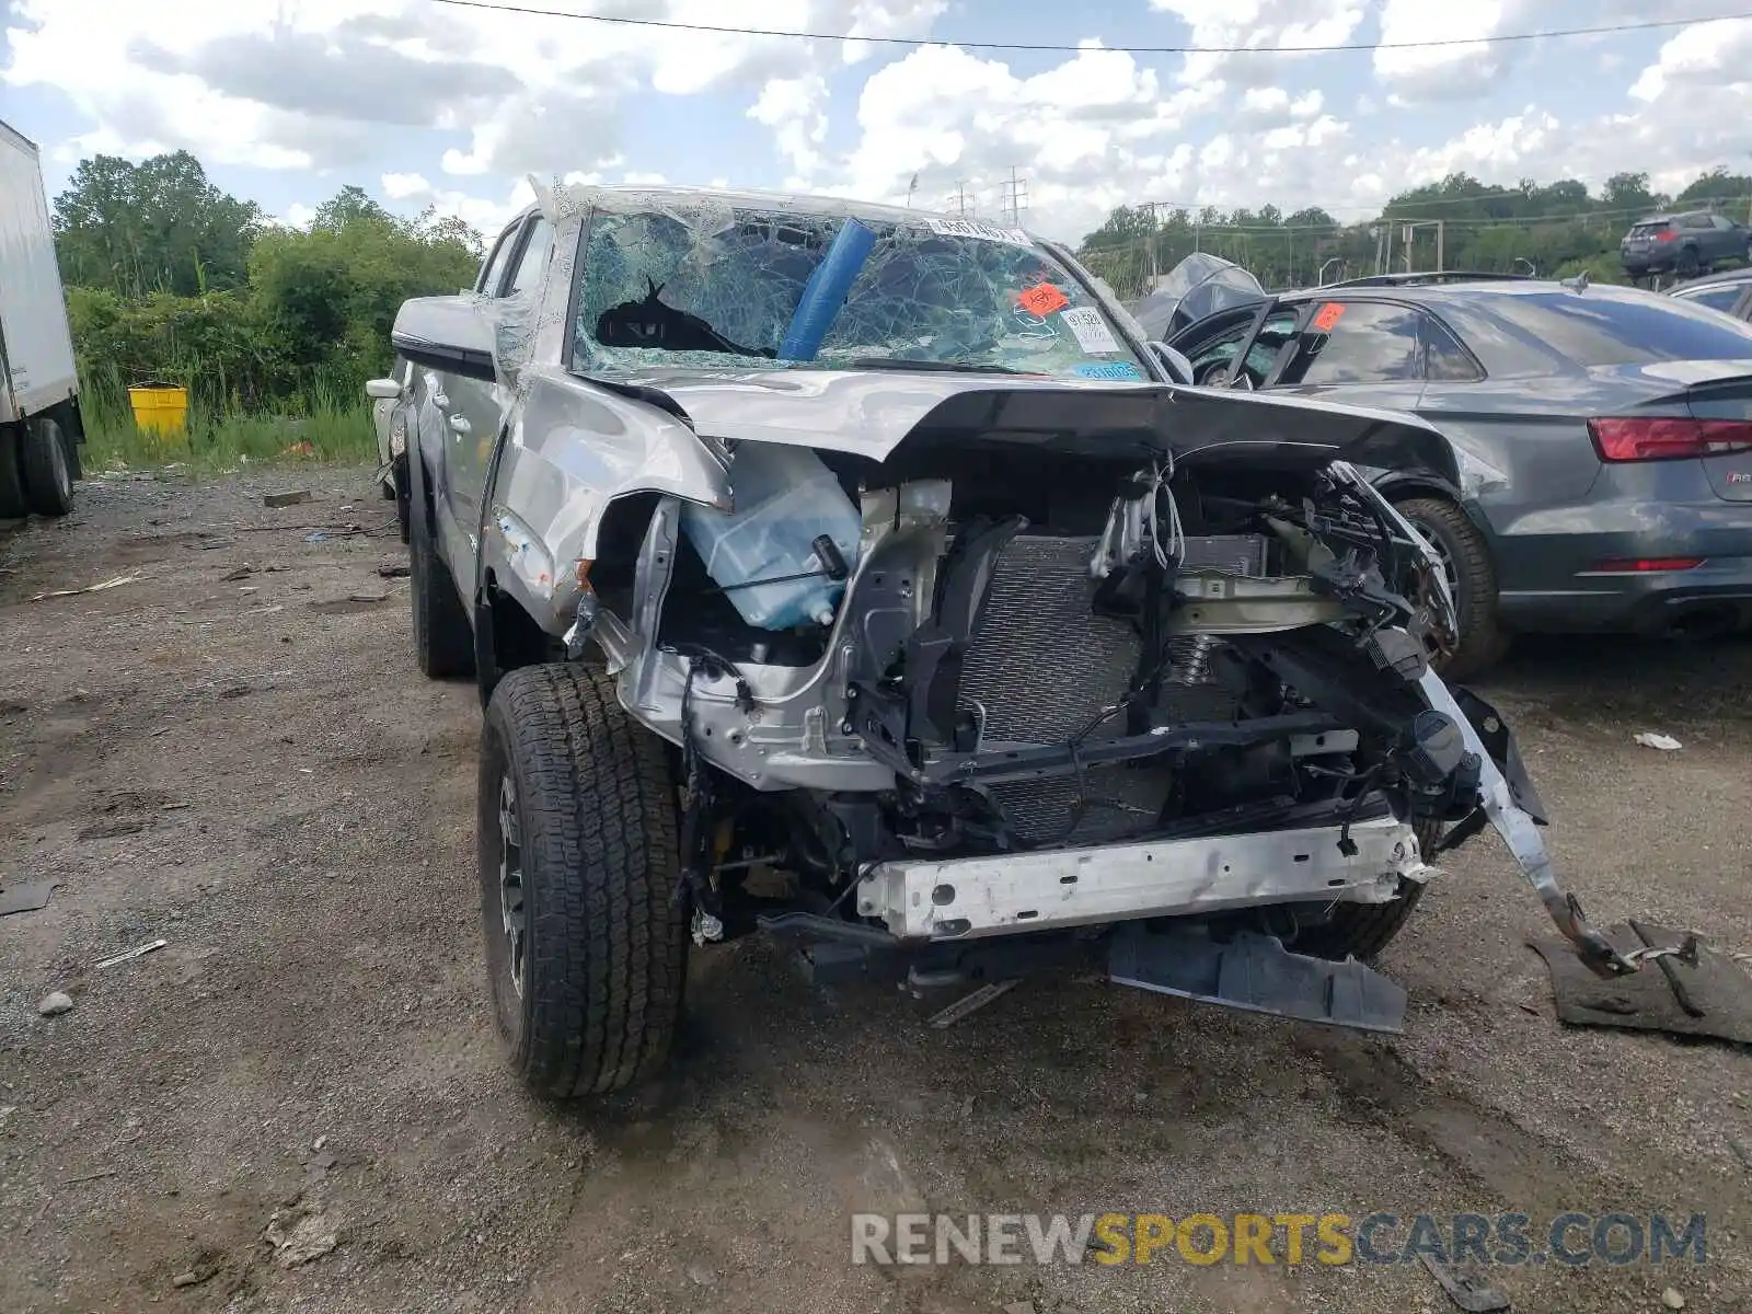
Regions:
[[[599,210],[573,335],[587,373],[918,366],[1148,378],[1093,294],[1025,233],[927,215]]]

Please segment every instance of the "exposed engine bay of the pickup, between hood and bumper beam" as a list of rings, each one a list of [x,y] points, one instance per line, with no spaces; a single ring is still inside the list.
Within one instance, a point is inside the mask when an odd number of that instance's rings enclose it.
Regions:
[[[872,864],[1473,808],[1477,760],[1407,683],[1440,585],[1340,477],[930,434],[880,464],[743,443],[731,471],[732,513],[653,515],[624,675],[706,801],[683,850],[713,918],[764,869],[843,913]]]

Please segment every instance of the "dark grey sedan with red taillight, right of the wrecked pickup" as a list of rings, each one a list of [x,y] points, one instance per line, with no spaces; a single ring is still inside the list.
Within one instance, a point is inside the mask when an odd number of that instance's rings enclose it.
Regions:
[[[1370,471],[1442,557],[1452,678],[1515,632],[1752,627],[1752,326],[1586,280],[1416,275],[1260,293],[1170,343],[1200,385],[1410,412],[1454,445],[1458,485]]]

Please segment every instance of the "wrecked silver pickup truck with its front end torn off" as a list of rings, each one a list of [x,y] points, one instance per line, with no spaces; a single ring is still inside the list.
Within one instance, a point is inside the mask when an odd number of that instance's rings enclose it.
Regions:
[[[1442,571],[1358,475],[1452,475],[1414,419],[1172,385],[1025,231],[764,194],[541,193],[394,345],[415,645],[485,703],[487,960],[541,1091],[650,1076],[689,946],[757,930],[822,976],[1095,951],[1395,1028],[1363,960],[1486,825],[1636,965],[1430,669]]]

